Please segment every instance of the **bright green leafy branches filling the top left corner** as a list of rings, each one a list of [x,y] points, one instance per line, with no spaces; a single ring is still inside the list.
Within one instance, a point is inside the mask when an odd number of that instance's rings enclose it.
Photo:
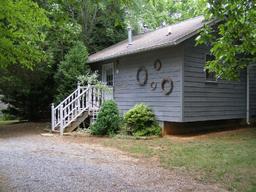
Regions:
[[[46,14],[31,0],[0,0],[0,67],[18,64],[32,69],[46,60],[38,46],[45,38],[42,28],[50,27]]]

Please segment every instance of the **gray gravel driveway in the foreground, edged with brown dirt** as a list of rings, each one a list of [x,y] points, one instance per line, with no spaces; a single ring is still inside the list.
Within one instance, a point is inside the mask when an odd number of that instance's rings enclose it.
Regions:
[[[2,192],[227,191],[180,170],[141,164],[124,152],[60,136],[0,138],[0,154]]]

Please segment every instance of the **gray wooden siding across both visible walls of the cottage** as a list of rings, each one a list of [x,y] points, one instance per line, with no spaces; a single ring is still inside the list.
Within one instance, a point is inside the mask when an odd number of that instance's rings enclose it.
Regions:
[[[206,83],[204,75],[205,54],[209,48],[195,45],[195,36],[169,48],[141,52],[92,64],[93,70],[102,74],[102,64],[118,60],[114,65],[114,100],[122,113],[135,104],[144,102],[154,110],[157,120],[170,122],[194,122],[246,118],[246,69],[240,71],[240,81],[218,79],[218,83]],[[160,59],[162,67],[154,70],[154,61]],[[144,86],[137,84],[136,74],[140,66],[148,72]],[[116,74],[116,69],[119,73]],[[250,117],[256,115],[256,67],[250,69]],[[162,93],[161,81],[171,78],[172,92]],[[100,77],[101,78],[101,77]],[[144,73],[140,72],[140,82]],[[157,83],[156,90],[150,83]],[[169,87],[165,84],[164,90]]]

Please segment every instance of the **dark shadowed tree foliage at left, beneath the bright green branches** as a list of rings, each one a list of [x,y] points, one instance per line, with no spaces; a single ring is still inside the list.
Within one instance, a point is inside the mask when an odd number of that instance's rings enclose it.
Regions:
[[[10,104],[3,110],[6,116],[20,120],[42,118],[53,99],[52,82],[48,79],[51,68],[45,63],[38,63],[32,71],[10,64],[0,68],[0,74],[0,89],[4,95],[1,100]]]

